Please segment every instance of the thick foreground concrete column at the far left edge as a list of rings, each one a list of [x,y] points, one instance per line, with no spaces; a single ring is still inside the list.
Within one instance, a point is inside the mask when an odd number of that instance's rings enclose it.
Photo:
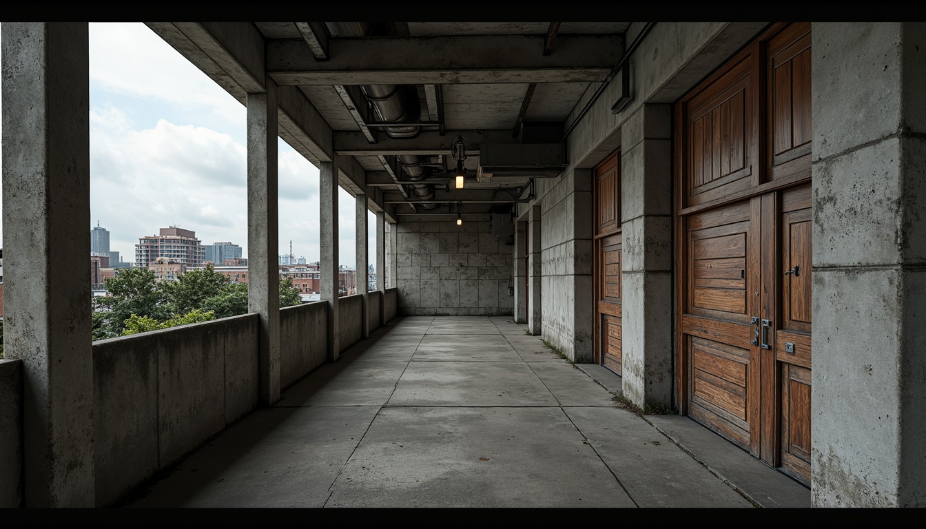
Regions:
[[[26,507],[95,502],[88,42],[85,22],[3,24],[4,352],[23,363]]]

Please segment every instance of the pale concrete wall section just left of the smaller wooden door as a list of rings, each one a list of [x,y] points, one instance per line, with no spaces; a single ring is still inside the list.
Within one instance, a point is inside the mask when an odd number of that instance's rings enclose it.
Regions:
[[[593,359],[591,171],[573,170],[544,196],[543,336],[577,362]]]

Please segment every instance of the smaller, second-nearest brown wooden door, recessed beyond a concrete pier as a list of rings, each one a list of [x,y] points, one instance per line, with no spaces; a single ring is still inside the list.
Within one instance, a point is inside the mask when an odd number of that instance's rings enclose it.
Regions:
[[[619,165],[615,151],[594,168],[594,355],[621,374]]]

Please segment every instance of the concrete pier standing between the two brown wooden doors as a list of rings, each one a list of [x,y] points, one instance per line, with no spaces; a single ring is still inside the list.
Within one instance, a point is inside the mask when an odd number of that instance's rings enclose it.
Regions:
[[[620,128],[623,392],[672,403],[671,106],[644,105]]]

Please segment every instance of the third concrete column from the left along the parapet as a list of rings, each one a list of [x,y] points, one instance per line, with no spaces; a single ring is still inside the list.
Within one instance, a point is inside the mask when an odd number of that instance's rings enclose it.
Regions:
[[[328,360],[341,354],[338,334],[338,157],[321,162],[319,168],[321,202],[321,299],[328,302]]]

